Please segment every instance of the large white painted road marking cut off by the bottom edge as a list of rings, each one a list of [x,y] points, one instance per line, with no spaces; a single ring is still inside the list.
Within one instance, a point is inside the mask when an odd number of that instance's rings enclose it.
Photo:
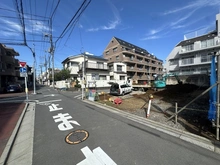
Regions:
[[[93,152],[88,146],[81,149],[86,159],[79,162],[77,165],[117,165],[100,147],[97,147]]]

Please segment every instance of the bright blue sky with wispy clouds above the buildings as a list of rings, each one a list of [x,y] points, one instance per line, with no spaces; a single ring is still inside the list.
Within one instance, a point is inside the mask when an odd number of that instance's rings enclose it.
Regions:
[[[220,0],[0,0],[0,43],[29,66],[35,53],[38,72],[51,46],[62,68],[69,56],[102,56],[114,36],[165,62],[184,35],[214,30],[218,13]]]

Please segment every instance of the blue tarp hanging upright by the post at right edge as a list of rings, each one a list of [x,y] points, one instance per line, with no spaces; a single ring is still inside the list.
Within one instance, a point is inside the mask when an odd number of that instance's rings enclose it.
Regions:
[[[214,85],[216,81],[217,81],[217,78],[216,78],[215,56],[212,56],[210,86]],[[216,100],[217,100],[217,87],[214,86],[209,91],[208,119],[211,121],[216,120]]]

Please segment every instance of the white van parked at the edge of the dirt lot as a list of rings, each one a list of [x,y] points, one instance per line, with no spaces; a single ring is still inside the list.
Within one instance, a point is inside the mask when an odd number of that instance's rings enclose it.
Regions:
[[[132,87],[128,84],[113,83],[110,88],[112,95],[125,95],[130,92],[132,92]]]

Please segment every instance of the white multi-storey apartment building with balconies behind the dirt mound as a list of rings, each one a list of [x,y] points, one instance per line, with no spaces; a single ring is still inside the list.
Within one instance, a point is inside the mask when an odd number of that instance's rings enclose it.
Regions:
[[[185,83],[209,86],[212,56],[220,50],[220,14],[216,15],[216,29],[194,37],[184,36],[166,58],[167,73],[176,73]],[[192,36],[192,34],[191,34]]]

